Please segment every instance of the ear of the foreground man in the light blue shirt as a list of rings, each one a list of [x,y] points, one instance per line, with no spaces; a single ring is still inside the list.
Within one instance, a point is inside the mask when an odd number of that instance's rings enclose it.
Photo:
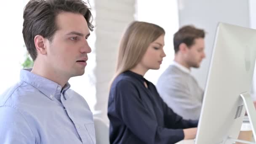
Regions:
[[[34,42],[35,42],[35,48],[37,49],[37,53],[46,55],[47,54],[46,45],[48,43],[48,40],[45,39],[42,35],[36,35],[34,38]]]

